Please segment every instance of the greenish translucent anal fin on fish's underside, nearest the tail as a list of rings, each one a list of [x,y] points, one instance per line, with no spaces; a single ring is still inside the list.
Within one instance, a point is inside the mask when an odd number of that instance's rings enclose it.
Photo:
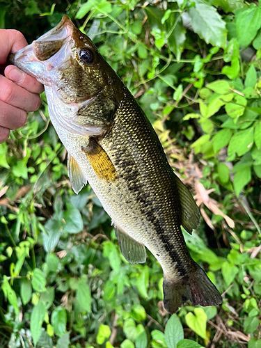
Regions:
[[[115,234],[118,239],[120,251],[129,263],[144,263],[146,260],[146,250],[142,243],[136,242],[127,233],[114,226]]]

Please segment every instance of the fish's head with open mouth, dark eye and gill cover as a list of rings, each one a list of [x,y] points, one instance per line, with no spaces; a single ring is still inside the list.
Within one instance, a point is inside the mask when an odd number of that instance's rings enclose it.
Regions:
[[[9,61],[45,85],[49,113],[62,127],[98,135],[109,126],[120,80],[68,16]]]

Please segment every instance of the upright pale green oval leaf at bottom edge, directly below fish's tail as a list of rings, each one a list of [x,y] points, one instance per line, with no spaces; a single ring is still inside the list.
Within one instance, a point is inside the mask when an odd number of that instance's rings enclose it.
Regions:
[[[165,328],[165,340],[168,348],[176,348],[177,342],[183,340],[184,333],[180,319],[176,314],[171,315]]]

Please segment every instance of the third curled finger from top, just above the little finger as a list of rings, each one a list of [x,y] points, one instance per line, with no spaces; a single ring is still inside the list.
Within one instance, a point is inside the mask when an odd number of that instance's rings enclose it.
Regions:
[[[0,101],[0,127],[17,129],[26,122],[26,111]]]

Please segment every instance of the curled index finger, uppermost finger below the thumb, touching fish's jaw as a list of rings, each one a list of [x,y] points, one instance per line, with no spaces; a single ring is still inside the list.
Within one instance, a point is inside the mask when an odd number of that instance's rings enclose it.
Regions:
[[[28,90],[31,93],[42,93],[45,88],[34,77],[25,74],[13,65],[8,65],[5,70],[5,75],[8,79],[12,80],[18,86]]]

